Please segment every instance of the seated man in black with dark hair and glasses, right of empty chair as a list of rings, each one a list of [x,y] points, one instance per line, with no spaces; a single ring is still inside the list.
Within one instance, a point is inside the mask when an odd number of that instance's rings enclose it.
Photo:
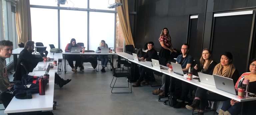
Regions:
[[[146,60],[146,61],[152,61],[151,59],[158,60],[157,52],[154,49],[154,43],[148,42],[147,44],[148,44],[148,51],[143,57],[140,58],[140,60]],[[139,70],[140,70],[140,77],[137,80],[137,82],[132,85],[133,87],[139,87],[141,83],[144,83],[144,84],[148,83],[147,75],[145,74],[145,72],[148,71],[148,68],[144,66],[140,66]]]

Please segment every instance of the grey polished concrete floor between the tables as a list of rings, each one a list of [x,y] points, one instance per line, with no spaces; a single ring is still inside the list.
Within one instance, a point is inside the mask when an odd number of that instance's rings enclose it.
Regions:
[[[116,60],[116,59],[115,59]],[[64,66],[64,61],[63,61]],[[163,104],[162,99],[158,101],[158,96],[152,91],[157,87],[141,86],[132,87],[132,93],[111,93],[109,87],[113,78],[112,72],[96,72],[86,65],[84,72],[74,73],[68,66],[68,71],[60,75],[64,79],[72,81],[62,88],[58,85],[54,87],[54,100],[57,101],[56,110],[52,110],[54,115],[191,115],[192,111],[186,108],[175,109]],[[101,67],[100,67],[101,69]],[[9,75],[12,80],[12,75]],[[158,82],[159,83],[159,82]],[[117,86],[127,86],[125,78],[117,79]],[[129,91],[129,88],[114,88],[114,91]],[[1,104],[2,105],[2,104]],[[3,107],[0,107],[3,108]],[[206,112],[211,115],[213,112]],[[216,113],[215,113],[216,114]],[[0,115],[4,110],[0,110]]]

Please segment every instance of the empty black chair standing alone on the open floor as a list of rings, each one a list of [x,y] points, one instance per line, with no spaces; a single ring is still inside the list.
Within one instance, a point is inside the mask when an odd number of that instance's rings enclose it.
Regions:
[[[112,74],[113,74],[113,79],[112,79],[112,81],[110,83],[110,87],[112,87],[111,93],[132,93],[132,83],[130,82],[130,77],[131,77],[130,73],[116,73],[116,68],[114,68],[113,63],[110,60],[109,60],[109,63],[111,65],[111,67],[112,67]],[[113,82],[115,77],[116,77],[115,82],[114,82],[113,86],[111,86],[111,84],[112,84],[112,82]],[[115,87],[116,80],[119,77],[126,77],[126,79],[128,81],[128,87]],[[129,86],[129,82],[130,82],[130,86]],[[114,87],[115,88],[129,88],[129,87],[131,87],[131,92],[112,92]]]

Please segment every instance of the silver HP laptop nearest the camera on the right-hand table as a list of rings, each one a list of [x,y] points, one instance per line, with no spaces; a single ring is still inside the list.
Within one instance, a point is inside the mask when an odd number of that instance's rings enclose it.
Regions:
[[[215,75],[215,74],[213,74],[213,77],[214,77],[215,86],[217,89],[236,95],[233,79],[223,77],[220,75]]]

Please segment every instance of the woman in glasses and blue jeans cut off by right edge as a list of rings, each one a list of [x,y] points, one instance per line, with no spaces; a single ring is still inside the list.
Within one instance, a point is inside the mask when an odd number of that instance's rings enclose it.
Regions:
[[[250,72],[243,73],[236,82],[235,88],[242,86],[242,82],[244,79],[249,79],[249,90],[248,92],[256,94],[256,58],[251,60],[251,64],[249,65]],[[234,99],[228,99],[225,101],[219,111],[219,115],[237,115],[241,111],[242,103],[236,101]],[[248,114],[253,114],[252,110],[256,107],[255,103],[249,103],[248,110],[251,110]],[[255,115],[255,112],[254,112]]]

